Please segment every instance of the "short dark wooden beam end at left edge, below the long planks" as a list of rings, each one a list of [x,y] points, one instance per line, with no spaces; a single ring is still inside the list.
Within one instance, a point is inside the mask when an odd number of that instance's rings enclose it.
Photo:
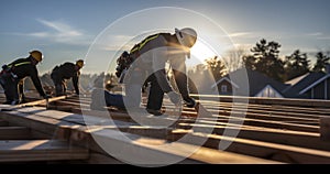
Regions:
[[[0,127],[0,140],[32,139],[26,127]]]

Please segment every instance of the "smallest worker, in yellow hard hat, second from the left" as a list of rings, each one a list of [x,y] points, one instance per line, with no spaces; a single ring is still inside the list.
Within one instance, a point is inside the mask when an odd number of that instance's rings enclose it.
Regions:
[[[65,96],[67,79],[73,80],[76,95],[79,95],[79,75],[85,62],[82,59],[76,61],[76,63],[66,62],[59,66],[55,66],[52,70],[51,78],[55,85],[55,95]]]

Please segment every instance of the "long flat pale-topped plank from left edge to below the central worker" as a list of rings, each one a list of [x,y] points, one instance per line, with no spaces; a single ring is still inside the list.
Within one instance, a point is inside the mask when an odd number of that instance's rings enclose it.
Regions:
[[[36,108],[30,108],[29,110],[30,112],[33,112],[34,109]],[[20,110],[24,110],[24,113],[28,113],[28,108]],[[81,123],[81,115],[73,115],[62,111],[45,110],[43,112],[38,112],[37,115],[30,115],[29,118],[24,118],[24,115],[9,116],[7,118],[14,119],[15,121],[20,121],[21,118],[21,122],[24,122],[24,126],[32,126],[31,129],[41,131],[43,133],[47,132],[48,134],[56,134],[62,131],[59,128],[57,128],[59,126],[66,126],[66,128],[77,126],[79,126],[79,129],[86,128],[84,127],[85,122]],[[131,122],[116,120],[111,121],[109,119],[92,116],[84,116],[84,119],[89,123],[88,128],[90,131],[98,129],[119,129],[123,132],[164,139],[172,131],[172,129],[168,128],[134,126]]]

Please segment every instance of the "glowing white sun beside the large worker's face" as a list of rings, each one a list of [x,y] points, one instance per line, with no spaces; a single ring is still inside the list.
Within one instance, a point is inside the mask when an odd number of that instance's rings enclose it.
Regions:
[[[205,59],[217,56],[217,53],[212,51],[212,47],[202,40],[198,39],[195,45],[190,48],[190,58],[186,64],[195,66],[205,63]]]

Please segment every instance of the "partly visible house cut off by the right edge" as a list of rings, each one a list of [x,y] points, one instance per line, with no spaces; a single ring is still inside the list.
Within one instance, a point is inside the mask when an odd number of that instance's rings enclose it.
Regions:
[[[326,73],[308,73],[286,84],[289,87],[283,94],[288,98],[330,100],[330,65]]]

